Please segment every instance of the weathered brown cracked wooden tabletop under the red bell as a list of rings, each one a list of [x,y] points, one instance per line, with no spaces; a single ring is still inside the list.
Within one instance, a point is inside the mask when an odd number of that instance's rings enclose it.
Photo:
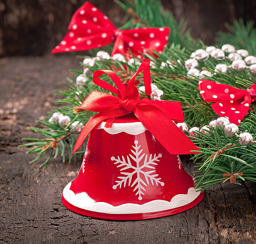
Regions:
[[[70,212],[61,192],[80,168],[52,159],[42,169],[17,148],[53,108],[67,56],[0,59],[0,243],[256,243],[256,184],[228,182],[205,192],[193,209],[146,221],[104,221]],[[42,163],[42,162],[41,162]],[[191,162],[184,163],[187,171]]]

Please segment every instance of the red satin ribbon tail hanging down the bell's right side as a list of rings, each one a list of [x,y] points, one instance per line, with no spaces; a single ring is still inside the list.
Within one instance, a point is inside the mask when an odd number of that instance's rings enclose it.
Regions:
[[[160,109],[150,110],[146,112],[136,108],[134,114],[170,154],[191,154],[193,150],[200,151]],[[154,120],[149,119],[150,117]]]

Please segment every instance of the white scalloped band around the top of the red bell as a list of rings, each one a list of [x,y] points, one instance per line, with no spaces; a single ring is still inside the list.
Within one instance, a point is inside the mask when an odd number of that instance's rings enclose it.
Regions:
[[[120,132],[125,132],[130,135],[139,135],[140,133],[145,132],[146,127],[143,126],[141,122],[134,123],[113,123],[111,128],[104,127],[106,122],[102,122],[96,129],[104,129],[105,132],[115,135]]]

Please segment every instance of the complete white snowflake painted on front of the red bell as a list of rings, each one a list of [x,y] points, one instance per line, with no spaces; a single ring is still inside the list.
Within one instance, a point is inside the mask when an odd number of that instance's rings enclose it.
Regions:
[[[161,153],[158,154],[158,156],[156,156],[156,154],[154,154],[154,157],[152,157],[152,154],[150,154],[149,159],[148,159],[148,155],[145,156],[145,153],[142,153],[143,149],[139,151],[141,145],[138,146],[138,141],[134,141],[135,146],[133,145],[133,148],[135,151],[133,151],[131,149],[132,154],[129,154],[129,156],[131,157],[131,159],[134,160],[134,162],[136,162],[136,166],[134,166],[131,163],[130,157],[127,156],[127,162],[125,160],[125,157],[122,156],[122,160],[120,159],[119,156],[117,156],[117,159],[115,157],[111,157],[111,160],[116,161],[114,164],[117,164],[117,168],[119,167],[123,167],[120,168],[120,173],[123,176],[119,176],[117,178],[119,178],[120,180],[116,180],[116,185],[113,186],[113,189],[116,189],[117,186],[119,186],[119,188],[126,186],[126,183],[128,181],[128,186],[131,186],[131,188],[133,186],[135,186],[135,188],[133,189],[133,191],[137,191],[135,195],[139,195],[138,199],[142,200],[142,195],[144,195],[143,191],[146,191],[145,186],[149,185],[149,180],[151,181],[152,186],[154,186],[154,183],[158,186],[158,183],[161,186],[164,186],[163,181],[160,181],[161,178],[157,178],[158,174],[154,174],[155,173],[155,165],[157,165],[157,162],[159,162],[158,158],[162,156]],[[144,163],[142,166],[140,166],[140,161],[143,159],[143,157],[145,156],[144,159]],[[145,171],[145,169],[152,169],[151,171]],[[122,172],[124,170],[128,169],[128,171],[130,172]],[[133,180],[133,175],[135,175],[135,180],[133,181],[132,185],[131,182]],[[144,176],[146,182],[142,179],[142,176]]]

